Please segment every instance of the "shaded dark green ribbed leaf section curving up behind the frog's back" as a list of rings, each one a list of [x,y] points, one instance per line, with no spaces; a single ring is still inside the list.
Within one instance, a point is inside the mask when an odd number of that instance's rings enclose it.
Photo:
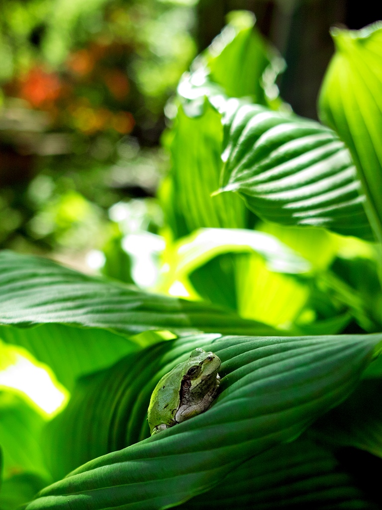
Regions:
[[[62,478],[80,464],[147,438],[147,408],[156,382],[194,348],[219,337],[161,342],[79,380],[65,411],[45,430],[54,476]]]

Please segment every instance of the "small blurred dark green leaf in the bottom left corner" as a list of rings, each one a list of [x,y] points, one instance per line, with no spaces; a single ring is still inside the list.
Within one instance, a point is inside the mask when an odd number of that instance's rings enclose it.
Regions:
[[[46,485],[35,473],[19,473],[4,481],[0,490],[1,510],[16,510],[30,501]]]

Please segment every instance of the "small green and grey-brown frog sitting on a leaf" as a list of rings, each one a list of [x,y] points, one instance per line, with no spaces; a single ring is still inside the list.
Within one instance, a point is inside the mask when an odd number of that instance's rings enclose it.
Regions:
[[[207,411],[219,389],[220,365],[219,356],[197,348],[187,361],[163,375],[148,409],[152,436]]]

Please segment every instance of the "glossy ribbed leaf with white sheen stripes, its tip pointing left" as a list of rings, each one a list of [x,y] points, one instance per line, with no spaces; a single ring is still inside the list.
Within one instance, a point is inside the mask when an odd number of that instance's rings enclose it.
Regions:
[[[332,130],[235,99],[226,110],[220,191],[268,221],[372,239],[356,169]]]

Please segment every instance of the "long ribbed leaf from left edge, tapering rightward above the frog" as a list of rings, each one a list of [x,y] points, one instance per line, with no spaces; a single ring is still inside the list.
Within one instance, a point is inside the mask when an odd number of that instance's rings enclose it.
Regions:
[[[61,323],[125,336],[147,329],[224,333],[262,327],[202,302],[146,294],[10,251],[0,253],[0,290],[0,323],[19,327]]]

